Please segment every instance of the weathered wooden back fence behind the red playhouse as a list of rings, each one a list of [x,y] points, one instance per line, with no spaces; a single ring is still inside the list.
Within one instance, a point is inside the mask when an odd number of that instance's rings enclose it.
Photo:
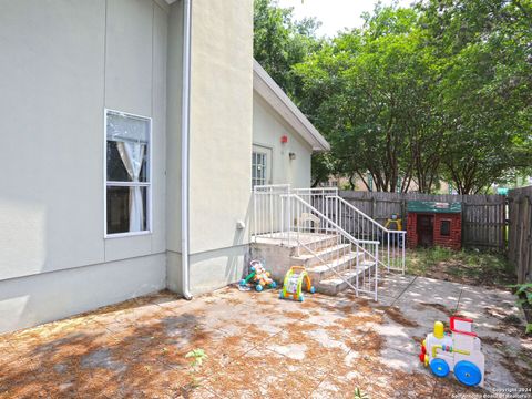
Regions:
[[[380,224],[391,214],[407,222],[408,201],[459,202],[462,204],[462,245],[507,247],[507,202],[503,195],[452,195],[340,191],[340,196]]]

